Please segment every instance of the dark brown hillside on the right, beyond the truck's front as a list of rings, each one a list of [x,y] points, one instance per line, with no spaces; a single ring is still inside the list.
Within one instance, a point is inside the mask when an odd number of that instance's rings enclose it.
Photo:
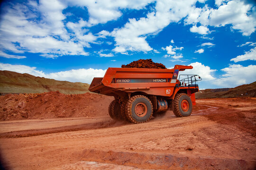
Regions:
[[[256,82],[248,85],[239,85],[234,88],[205,89],[195,94],[197,99],[203,98],[231,98],[231,97],[256,97]]]

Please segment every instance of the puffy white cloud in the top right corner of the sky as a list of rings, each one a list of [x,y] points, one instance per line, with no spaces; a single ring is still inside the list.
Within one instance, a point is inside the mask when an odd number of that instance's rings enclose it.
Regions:
[[[255,7],[244,0],[216,0],[217,9],[205,5],[193,8],[185,19],[186,24],[202,26],[227,26],[249,36],[256,30]]]

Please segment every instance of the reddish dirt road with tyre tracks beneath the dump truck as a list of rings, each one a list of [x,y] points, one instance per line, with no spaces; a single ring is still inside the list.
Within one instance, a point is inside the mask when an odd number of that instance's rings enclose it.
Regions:
[[[255,169],[256,98],[197,100],[144,124],[108,116],[0,122],[11,170]],[[106,108],[107,110],[107,108]]]

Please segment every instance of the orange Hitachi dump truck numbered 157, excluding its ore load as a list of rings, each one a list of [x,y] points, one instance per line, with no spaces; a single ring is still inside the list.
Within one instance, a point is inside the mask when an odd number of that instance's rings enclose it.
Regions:
[[[108,68],[105,76],[95,77],[89,90],[114,96],[109,114],[112,119],[143,123],[165,114],[167,109],[177,117],[190,116],[198,92],[198,75],[180,75],[192,66],[175,65],[173,69]],[[182,78],[182,79],[181,79]]]

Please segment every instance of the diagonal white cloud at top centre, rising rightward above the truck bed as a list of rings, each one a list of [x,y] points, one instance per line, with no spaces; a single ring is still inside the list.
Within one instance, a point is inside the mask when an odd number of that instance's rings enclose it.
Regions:
[[[139,19],[130,18],[122,28],[114,29],[111,34],[116,41],[114,51],[151,51],[153,50],[148,42],[147,35],[158,34],[171,22],[179,22],[186,17],[196,0],[188,1],[156,1],[155,11],[147,13],[146,17]]]

